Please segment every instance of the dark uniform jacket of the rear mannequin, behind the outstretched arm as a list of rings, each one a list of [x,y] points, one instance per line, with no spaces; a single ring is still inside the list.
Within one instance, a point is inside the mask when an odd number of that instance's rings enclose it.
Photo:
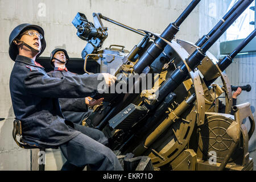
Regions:
[[[61,69],[57,67],[47,74],[55,78],[77,75],[69,72],[67,68]],[[59,102],[61,111],[68,121],[81,125],[82,119],[88,117],[88,106],[85,104],[85,98],[59,98]]]

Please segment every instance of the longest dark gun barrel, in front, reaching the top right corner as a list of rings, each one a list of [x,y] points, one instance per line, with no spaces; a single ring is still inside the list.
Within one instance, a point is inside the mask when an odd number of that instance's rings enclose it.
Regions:
[[[222,26],[214,32],[209,40],[201,47],[197,48],[186,60],[187,65],[192,70],[200,64],[205,57],[205,52],[217,41],[218,38],[228,29],[228,27],[242,14],[243,11],[253,2],[253,0],[245,0],[241,5],[229,16],[229,18],[222,24]],[[170,92],[173,92],[185,78],[188,76],[188,69],[185,64],[178,67],[168,78],[166,82],[159,89],[159,98],[162,100]]]

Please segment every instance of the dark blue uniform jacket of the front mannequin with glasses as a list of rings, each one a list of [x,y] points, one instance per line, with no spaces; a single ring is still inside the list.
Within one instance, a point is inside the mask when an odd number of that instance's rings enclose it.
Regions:
[[[93,96],[101,82],[97,76],[49,77],[40,64],[18,55],[10,76],[10,93],[15,117],[22,121],[24,141],[59,146],[80,134],[65,125],[58,98]]]

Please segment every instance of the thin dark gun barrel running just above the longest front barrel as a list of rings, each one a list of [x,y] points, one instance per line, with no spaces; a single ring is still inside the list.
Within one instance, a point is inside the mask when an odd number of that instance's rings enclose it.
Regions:
[[[241,5],[243,0],[237,1],[236,4],[226,13],[223,18],[212,28],[212,30],[207,34],[204,35],[201,39],[197,40],[196,46],[202,47],[207,40],[221,27],[221,25],[229,18],[230,15],[234,13],[234,11]]]

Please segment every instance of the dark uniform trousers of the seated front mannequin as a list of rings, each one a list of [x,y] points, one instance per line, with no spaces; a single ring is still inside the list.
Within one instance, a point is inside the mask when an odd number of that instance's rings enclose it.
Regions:
[[[102,131],[68,121],[66,124],[81,133],[60,145],[60,150],[67,159],[61,170],[82,170],[86,165],[97,171],[123,170],[117,156],[105,146],[108,138]]]

